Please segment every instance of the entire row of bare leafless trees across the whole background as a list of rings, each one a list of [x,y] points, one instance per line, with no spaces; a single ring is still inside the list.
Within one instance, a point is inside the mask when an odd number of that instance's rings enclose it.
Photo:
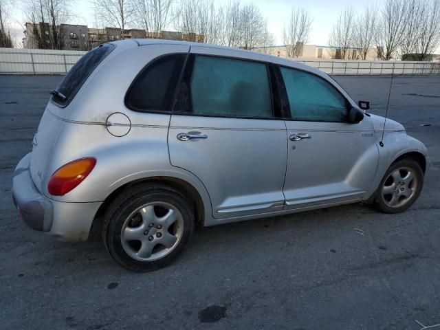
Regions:
[[[5,28],[8,13],[0,0],[0,47],[10,45]],[[25,17],[40,48],[63,49],[61,23],[72,22],[74,0],[23,0]],[[12,3],[12,2],[11,2]],[[275,44],[267,17],[254,3],[230,0],[91,0],[96,24],[120,30],[141,29],[160,37],[164,30],[203,36],[204,43],[263,52]],[[43,24],[41,24],[43,23]],[[305,8],[292,8],[281,33],[285,54],[298,57],[313,28],[314,19]],[[41,27],[44,28],[41,28]],[[9,40],[9,41],[8,41]],[[346,7],[336,18],[329,35],[334,58],[389,60],[409,56],[425,61],[440,45],[440,0],[386,0],[355,12]],[[374,52],[375,54],[372,54]]]

